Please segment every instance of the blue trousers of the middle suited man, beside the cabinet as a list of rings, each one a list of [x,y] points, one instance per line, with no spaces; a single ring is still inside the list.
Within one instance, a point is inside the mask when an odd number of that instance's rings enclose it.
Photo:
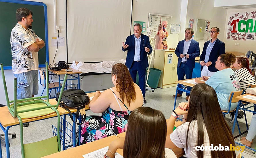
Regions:
[[[190,68],[187,65],[187,62],[184,61],[181,63],[181,65],[177,68],[177,75],[178,75],[178,80],[184,80],[184,76],[186,74],[186,78],[190,79],[192,78],[192,72],[193,72],[193,68]],[[182,88],[181,85],[178,86],[179,88]],[[191,90],[192,87],[188,87],[187,90]],[[182,95],[182,91],[178,90],[178,94]],[[189,95],[189,93],[187,93],[187,96]]]

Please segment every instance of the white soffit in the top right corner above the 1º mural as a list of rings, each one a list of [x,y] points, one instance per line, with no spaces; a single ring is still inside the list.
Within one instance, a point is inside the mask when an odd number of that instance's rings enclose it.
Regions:
[[[227,7],[227,6],[236,6],[236,5],[254,5],[256,4],[255,0],[215,0],[214,7]]]

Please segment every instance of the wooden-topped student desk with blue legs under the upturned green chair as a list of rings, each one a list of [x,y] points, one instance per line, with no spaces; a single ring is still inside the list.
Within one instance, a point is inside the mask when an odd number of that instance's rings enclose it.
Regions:
[[[94,96],[94,93],[88,93],[87,94],[89,97]],[[49,103],[52,105],[56,105],[57,101],[55,100],[55,98],[53,99],[49,99]],[[85,110],[89,110],[89,105],[85,105]],[[75,113],[77,111],[77,109],[74,108],[70,108],[69,109],[72,113]],[[60,113],[60,115],[66,115],[68,114],[68,111],[66,111],[65,109],[63,109],[62,107],[58,107],[58,111]],[[34,122],[34,121],[38,121],[38,120],[44,120],[47,118],[51,118],[51,117],[56,117],[57,114],[56,113],[51,113],[49,115],[45,115],[45,116],[41,116],[41,117],[35,117],[35,118],[30,118],[30,119],[22,119],[23,123],[26,122]],[[73,118],[75,118],[75,115],[73,114]],[[12,117],[12,115],[9,113],[9,110],[7,108],[7,106],[5,107],[0,107],[0,126],[5,134],[5,147],[6,147],[6,155],[7,158],[10,157],[10,151],[9,151],[9,137],[8,137],[8,130],[9,128],[11,128],[12,126],[16,126],[19,125],[19,120],[17,118]],[[73,122],[73,147],[75,147],[75,138],[76,138],[76,127],[75,127],[75,123]],[[6,128],[5,128],[6,127]],[[81,128],[79,128],[80,130]],[[1,143],[1,142],[0,142]],[[0,144],[0,149],[1,149],[1,144]],[[2,157],[2,150],[0,150],[0,157]]]

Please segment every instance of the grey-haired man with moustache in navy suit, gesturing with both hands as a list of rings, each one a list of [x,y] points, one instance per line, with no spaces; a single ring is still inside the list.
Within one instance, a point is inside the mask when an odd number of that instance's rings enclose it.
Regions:
[[[146,93],[146,68],[148,67],[147,54],[152,52],[152,47],[149,42],[149,37],[141,34],[142,26],[138,23],[134,25],[134,34],[126,38],[123,43],[122,50],[127,51],[125,65],[129,68],[131,78],[136,83],[137,72],[139,74],[139,86],[144,97]]]

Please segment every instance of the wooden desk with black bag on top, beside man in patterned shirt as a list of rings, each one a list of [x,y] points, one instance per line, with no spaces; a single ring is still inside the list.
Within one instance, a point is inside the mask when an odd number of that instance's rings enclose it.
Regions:
[[[65,74],[68,74],[69,76],[74,77],[74,78],[70,78],[70,79],[66,80],[66,88],[68,86],[67,85],[67,81],[69,81],[69,80],[77,80],[78,81],[78,89],[80,89],[80,75],[79,74],[81,74],[82,72],[78,71],[78,70],[75,70],[75,69],[72,69],[72,68],[69,68],[69,69],[72,70],[72,71],[66,71],[65,69],[62,69],[60,71],[50,70],[49,69],[50,72],[58,75],[58,77],[59,77],[59,92],[60,92],[60,89],[61,89],[60,81],[63,81],[63,80],[60,79],[60,75],[65,75]],[[76,74],[77,76],[74,76],[73,74]],[[50,75],[52,75],[52,74],[50,74]]]

